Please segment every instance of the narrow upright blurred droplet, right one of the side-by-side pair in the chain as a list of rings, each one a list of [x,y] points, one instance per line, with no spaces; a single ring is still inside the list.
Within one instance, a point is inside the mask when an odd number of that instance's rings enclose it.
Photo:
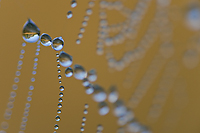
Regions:
[[[119,97],[116,87],[111,86],[109,91],[110,91],[110,93],[108,95],[108,101],[111,102],[111,103],[116,102],[118,97]]]

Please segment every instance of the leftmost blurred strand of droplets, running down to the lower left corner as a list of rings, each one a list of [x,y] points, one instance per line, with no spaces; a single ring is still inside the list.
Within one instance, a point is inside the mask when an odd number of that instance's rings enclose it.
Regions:
[[[26,43],[22,43],[22,47],[25,47]],[[10,120],[12,115],[12,108],[14,107],[14,101],[16,97],[16,91],[18,89],[19,77],[21,75],[20,70],[22,69],[23,58],[25,50],[22,48],[20,51],[19,61],[17,65],[17,70],[15,72],[14,84],[12,85],[12,91],[10,92],[10,97],[7,103],[7,108],[4,113],[4,121],[1,123],[1,128],[6,130],[9,127],[8,120]],[[0,133],[6,133],[6,131],[1,130]]]

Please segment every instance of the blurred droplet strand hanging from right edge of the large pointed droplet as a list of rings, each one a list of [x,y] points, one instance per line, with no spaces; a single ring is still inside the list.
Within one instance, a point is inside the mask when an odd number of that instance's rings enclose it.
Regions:
[[[33,94],[33,90],[34,90],[34,82],[35,82],[35,75],[36,75],[36,70],[37,70],[37,66],[38,66],[38,56],[40,52],[40,41],[38,41],[37,43],[37,48],[35,51],[35,58],[34,58],[34,63],[33,63],[33,70],[32,70],[32,76],[31,76],[31,83],[29,86],[29,91],[28,91],[28,96],[26,99],[26,104],[25,104],[25,108],[24,108],[24,112],[23,112],[23,117],[22,117],[22,121],[20,124],[20,131],[19,133],[24,133],[24,130],[26,129],[26,125],[27,125],[27,121],[28,121],[28,115],[29,115],[29,111],[30,111],[30,102],[32,101],[32,94]]]

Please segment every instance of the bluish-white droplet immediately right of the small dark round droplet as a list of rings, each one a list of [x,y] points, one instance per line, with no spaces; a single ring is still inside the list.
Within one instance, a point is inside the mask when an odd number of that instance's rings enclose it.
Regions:
[[[87,77],[87,72],[81,65],[74,65],[74,77],[78,80],[83,80]]]

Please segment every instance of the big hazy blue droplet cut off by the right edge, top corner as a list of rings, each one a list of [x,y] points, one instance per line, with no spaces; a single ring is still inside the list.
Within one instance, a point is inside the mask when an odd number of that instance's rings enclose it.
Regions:
[[[186,11],[186,24],[191,30],[200,29],[200,4],[191,3]]]

